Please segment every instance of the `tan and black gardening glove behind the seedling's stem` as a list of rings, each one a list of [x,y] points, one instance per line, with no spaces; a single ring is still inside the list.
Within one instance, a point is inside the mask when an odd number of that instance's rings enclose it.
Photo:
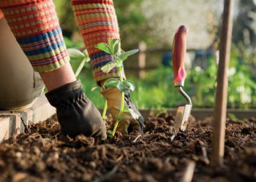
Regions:
[[[110,108],[110,113],[113,116],[113,120],[116,122],[116,114],[119,113],[118,106],[121,105],[121,92],[117,88],[107,88],[100,92],[104,98],[108,101],[108,108]],[[129,92],[125,92],[124,95],[125,105],[138,114],[139,118],[134,119],[131,114],[124,112],[121,122],[119,122],[117,130],[121,133],[127,134],[132,131],[143,132],[144,119],[143,116],[138,111],[137,106],[129,97]]]

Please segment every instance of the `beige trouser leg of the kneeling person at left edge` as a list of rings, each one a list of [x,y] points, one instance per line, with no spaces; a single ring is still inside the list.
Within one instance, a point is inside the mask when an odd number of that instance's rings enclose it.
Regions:
[[[0,19],[0,109],[28,108],[44,84],[15,40],[7,22]]]

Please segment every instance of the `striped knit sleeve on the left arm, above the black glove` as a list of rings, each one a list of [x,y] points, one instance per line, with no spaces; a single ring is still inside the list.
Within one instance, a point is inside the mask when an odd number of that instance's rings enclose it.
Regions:
[[[69,61],[52,0],[0,0],[0,9],[34,71],[52,71]]]

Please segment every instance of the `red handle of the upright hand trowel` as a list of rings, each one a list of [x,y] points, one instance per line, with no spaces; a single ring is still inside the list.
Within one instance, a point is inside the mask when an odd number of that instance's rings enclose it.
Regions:
[[[173,39],[173,72],[174,86],[183,87],[187,76],[184,68],[184,60],[187,50],[187,28],[181,25],[175,33]]]

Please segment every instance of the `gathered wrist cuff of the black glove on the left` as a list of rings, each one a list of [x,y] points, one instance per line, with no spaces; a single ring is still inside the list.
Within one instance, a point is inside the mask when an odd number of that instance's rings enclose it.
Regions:
[[[70,103],[75,103],[76,100],[85,96],[80,80],[64,84],[63,86],[51,90],[45,94],[49,103],[53,107],[69,106]]]

